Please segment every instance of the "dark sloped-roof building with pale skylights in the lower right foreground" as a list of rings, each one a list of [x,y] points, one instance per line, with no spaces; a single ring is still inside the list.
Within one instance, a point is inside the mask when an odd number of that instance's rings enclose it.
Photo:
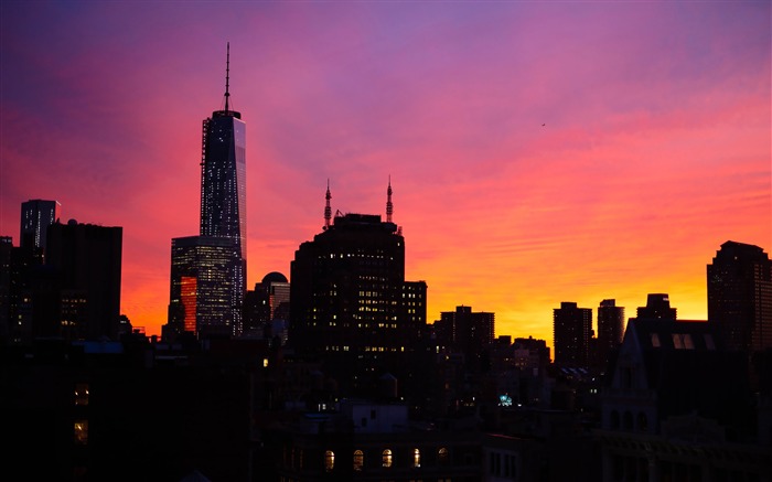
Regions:
[[[631,319],[602,392],[602,481],[769,480],[748,357],[705,321]],[[769,426],[766,426],[769,430]]]

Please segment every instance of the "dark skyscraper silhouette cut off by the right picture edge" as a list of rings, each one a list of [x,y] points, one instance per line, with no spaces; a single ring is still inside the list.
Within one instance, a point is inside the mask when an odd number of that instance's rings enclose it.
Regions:
[[[708,322],[732,350],[772,347],[772,260],[759,246],[728,240],[707,266]]]

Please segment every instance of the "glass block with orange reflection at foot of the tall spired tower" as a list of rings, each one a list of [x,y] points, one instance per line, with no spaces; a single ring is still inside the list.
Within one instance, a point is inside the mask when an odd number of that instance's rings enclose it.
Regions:
[[[234,287],[238,270],[233,238],[187,236],[172,239],[169,329],[202,334],[236,334],[240,294]]]

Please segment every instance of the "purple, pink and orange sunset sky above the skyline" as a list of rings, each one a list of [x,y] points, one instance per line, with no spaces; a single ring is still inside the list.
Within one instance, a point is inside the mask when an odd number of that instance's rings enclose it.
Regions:
[[[720,245],[772,249],[771,6],[3,0],[0,235],[30,199],[122,226],[121,312],[160,334],[229,42],[250,288],[289,277],[328,180],[385,218],[390,175],[429,322],[551,345],[561,301],[655,292],[705,320]]]

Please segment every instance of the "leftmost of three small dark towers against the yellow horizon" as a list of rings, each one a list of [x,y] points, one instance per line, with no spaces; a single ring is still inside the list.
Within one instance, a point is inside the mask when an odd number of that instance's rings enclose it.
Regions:
[[[555,364],[587,367],[590,362],[592,309],[578,308],[577,303],[564,301],[560,308],[553,310],[553,321]]]

